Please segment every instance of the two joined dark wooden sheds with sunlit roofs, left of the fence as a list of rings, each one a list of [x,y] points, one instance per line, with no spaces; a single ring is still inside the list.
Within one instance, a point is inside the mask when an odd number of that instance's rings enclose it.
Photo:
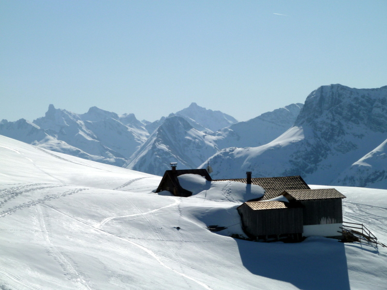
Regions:
[[[275,200],[245,202],[238,212],[246,234],[257,240],[337,237],[342,227],[342,198],[334,188],[284,190]]]

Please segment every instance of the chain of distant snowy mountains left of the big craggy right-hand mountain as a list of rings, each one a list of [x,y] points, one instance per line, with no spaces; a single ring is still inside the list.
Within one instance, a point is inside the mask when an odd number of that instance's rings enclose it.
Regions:
[[[181,169],[196,168],[224,147],[265,143],[293,125],[301,106],[293,104],[238,123],[196,103],[154,122],[97,107],[75,114],[50,105],[45,117],[33,122],[3,120],[0,134],[48,150],[162,175],[170,162],[179,162]],[[248,138],[248,131],[255,136]]]

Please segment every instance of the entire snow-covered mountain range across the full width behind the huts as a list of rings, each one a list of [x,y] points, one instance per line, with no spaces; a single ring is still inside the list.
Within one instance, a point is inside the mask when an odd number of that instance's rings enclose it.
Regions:
[[[387,87],[327,85],[305,105],[244,122],[192,103],[157,121],[53,105],[45,117],[0,122],[0,134],[41,148],[156,175],[205,167],[214,178],[301,175],[309,183],[387,188]]]

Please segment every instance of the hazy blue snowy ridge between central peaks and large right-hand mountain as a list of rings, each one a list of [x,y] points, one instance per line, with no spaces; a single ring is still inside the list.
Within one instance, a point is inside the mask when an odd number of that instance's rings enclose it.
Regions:
[[[271,142],[293,126],[303,104],[290,104],[238,122],[216,132],[217,147],[257,147]]]

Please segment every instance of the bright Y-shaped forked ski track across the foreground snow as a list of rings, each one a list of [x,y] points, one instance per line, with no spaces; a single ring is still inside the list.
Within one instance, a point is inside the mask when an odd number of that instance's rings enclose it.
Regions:
[[[168,197],[169,197],[169,196],[168,196]],[[154,213],[154,212],[157,212],[158,210],[162,210],[162,209],[164,209],[164,208],[168,208],[168,207],[171,207],[171,206],[175,206],[175,205],[179,205],[179,204],[180,204],[180,200],[179,200],[179,199],[177,199],[177,198],[172,198],[172,197],[169,197],[169,198],[175,200],[175,202],[172,203],[172,204],[170,204],[170,205],[162,206],[161,208],[156,208],[156,209],[154,209],[154,210],[150,210],[150,211],[144,212],[144,213],[135,213],[135,214],[132,214],[132,215],[122,215],[122,216],[116,216],[116,217],[109,217],[109,218],[104,219],[104,220],[103,220],[101,223],[99,223],[98,225],[92,225],[92,224],[90,224],[90,223],[87,223],[87,222],[85,222],[84,220],[81,220],[81,219],[76,218],[76,217],[74,217],[74,216],[72,216],[72,215],[70,215],[70,214],[68,214],[68,213],[66,213],[66,212],[63,212],[62,210],[56,208],[55,206],[52,206],[52,205],[47,205],[47,206],[50,207],[50,208],[52,208],[53,210],[59,212],[59,213],[62,213],[63,215],[65,215],[65,216],[67,216],[67,217],[70,217],[70,218],[72,218],[72,219],[74,219],[74,220],[76,220],[76,221],[78,221],[78,222],[80,222],[80,223],[83,223],[84,225],[87,225],[88,227],[92,227],[93,229],[98,230],[98,231],[101,231],[101,232],[103,232],[104,234],[107,234],[107,235],[110,235],[110,236],[112,236],[112,237],[118,238],[118,239],[120,239],[120,240],[122,240],[122,241],[128,242],[128,243],[130,243],[130,244],[132,244],[132,245],[134,245],[134,246],[136,246],[136,247],[142,249],[142,250],[145,251],[147,254],[149,254],[149,255],[152,256],[154,259],[156,259],[156,261],[157,261],[161,266],[163,266],[164,268],[167,268],[167,269],[169,269],[169,270],[175,272],[176,274],[182,276],[183,278],[187,278],[188,280],[194,281],[195,283],[199,284],[200,286],[204,287],[204,288],[207,289],[207,290],[213,290],[211,287],[209,287],[209,286],[206,285],[205,283],[203,283],[203,282],[201,282],[201,281],[199,281],[199,280],[196,280],[195,278],[192,278],[192,277],[190,277],[190,276],[188,276],[188,275],[186,275],[186,274],[184,274],[184,273],[181,273],[181,272],[179,272],[179,271],[177,271],[177,270],[175,270],[175,269],[172,269],[170,266],[164,264],[163,261],[161,261],[161,259],[159,258],[159,256],[157,256],[156,253],[153,252],[151,249],[148,249],[147,247],[141,246],[140,244],[137,244],[137,243],[135,243],[135,242],[133,242],[133,241],[130,241],[130,240],[128,240],[128,239],[125,239],[124,237],[121,237],[120,235],[113,234],[113,233],[109,232],[108,230],[101,229],[101,227],[102,227],[106,222],[108,222],[108,221],[110,221],[110,220],[113,220],[113,219],[115,219],[115,218],[135,217],[135,216],[139,216],[139,215],[142,215],[142,216],[146,217],[146,215],[148,215],[148,214],[150,214],[150,213]],[[137,207],[136,207],[136,208],[137,208]],[[150,221],[149,221],[149,222],[150,222]],[[176,260],[175,260],[175,261],[176,261]]]

